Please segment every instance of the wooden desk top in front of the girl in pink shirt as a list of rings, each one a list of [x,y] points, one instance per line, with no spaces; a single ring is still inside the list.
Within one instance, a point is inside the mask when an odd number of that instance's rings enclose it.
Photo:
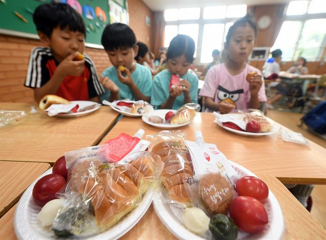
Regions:
[[[227,131],[213,122],[211,113],[200,113],[180,130],[188,140],[195,140],[195,131],[203,133],[205,142],[215,143],[226,157],[254,173],[266,173],[283,183],[326,184],[326,149],[309,141],[309,146],[285,142],[278,134],[247,137]],[[101,143],[124,132],[133,135],[138,129],[154,134],[161,129],[147,125],[141,118],[123,117]]]

